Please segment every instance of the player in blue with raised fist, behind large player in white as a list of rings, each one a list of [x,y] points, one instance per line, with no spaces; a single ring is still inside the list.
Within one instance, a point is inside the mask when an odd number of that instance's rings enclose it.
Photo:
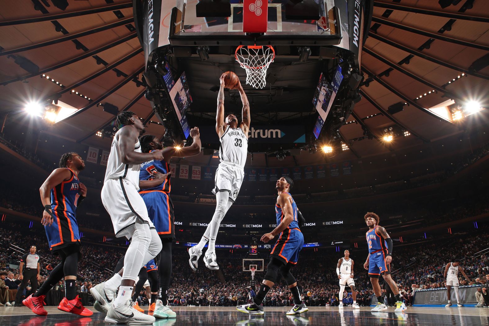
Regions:
[[[172,157],[189,157],[200,153],[199,128],[192,128],[190,136],[193,138],[191,146],[178,148],[166,147],[153,135],[144,135],[139,140],[143,153],[162,150],[163,160],[151,160],[141,164],[139,172],[139,194],[146,204],[148,215],[156,227],[156,232],[161,239],[161,252],[158,255],[159,294],[162,303],[156,301],[158,293],[151,292],[150,311],[156,308],[153,316],[156,318],[175,318],[177,315],[168,305],[167,290],[170,286],[172,274],[172,243],[175,239],[175,215],[173,203],[170,198],[171,171],[170,160]],[[158,257],[157,256],[157,257]],[[152,286],[153,287],[153,286]],[[156,306],[155,306],[156,304]]]

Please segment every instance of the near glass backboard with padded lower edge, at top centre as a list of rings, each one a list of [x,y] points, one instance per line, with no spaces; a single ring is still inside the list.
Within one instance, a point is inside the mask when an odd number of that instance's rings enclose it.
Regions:
[[[258,1],[259,4],[262,0]],[[332,0],[314,0],[319,20],[286,19],[289,0],[269,0],[267,31],[243,32],[243,1],[230,0],[230,17],[197,17],[196,0],[177,0],[169,24],[172,45],[337,45],[341,42],[340,15]],[[241,2],[241,3],[240,3]],[[253,4],[256,2],[253,2]]]

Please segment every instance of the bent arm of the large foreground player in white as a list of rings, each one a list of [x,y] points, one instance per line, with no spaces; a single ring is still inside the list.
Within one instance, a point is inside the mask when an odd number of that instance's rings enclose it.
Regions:
[[[138,131],[134,128],[121,128],[119,133],[119,154],[122,163],[141,164],[150,160],[162,160],[163,154],[161,150],[156,150],[151,153],[134,152],[134,144],[138,135]]]

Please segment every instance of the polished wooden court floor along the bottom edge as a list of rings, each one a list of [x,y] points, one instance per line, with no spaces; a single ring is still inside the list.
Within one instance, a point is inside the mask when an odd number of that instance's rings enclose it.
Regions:
[[[92,309],[92,307],[90,307]],[[419,326],[489,326],[489,308],[408,307],[407,312],[387,311],[373,313],[369,307],[353,310],[311,307],[300,316],[287,316],[284,308],[269,308],[265,315],[246,315],[234,307],[175,307],[177,319],[156,319],[154,326],[187,325],[419,325]],[[48,316],[36,316],[26,307],[1,307],[0,325],[16,326],[100,326],[111,325],[104,321],[105,315],[95,310],[91,317],[78,317],[61,312],[56,307],[46,307]]]

